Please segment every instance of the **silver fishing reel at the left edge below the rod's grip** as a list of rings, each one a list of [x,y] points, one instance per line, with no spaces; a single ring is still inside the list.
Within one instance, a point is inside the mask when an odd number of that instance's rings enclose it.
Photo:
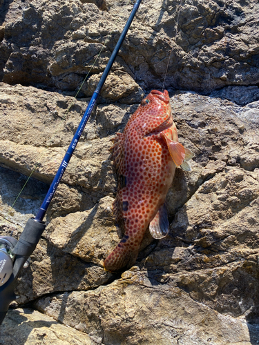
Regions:
[[[17,242],[17,239],[14,237],[0,236],[0,286],[6,284],[12,275],[15,262],[15,254],[12,253],[12,250]],[[23,268],[27,268],[29,264],[30,258],[23,264]]]

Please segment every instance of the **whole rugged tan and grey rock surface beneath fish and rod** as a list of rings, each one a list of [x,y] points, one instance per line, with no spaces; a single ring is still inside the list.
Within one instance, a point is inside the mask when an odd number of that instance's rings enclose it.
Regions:
[[[141,4],[0,344],[259,344],[259,5],[181,3]],[[1,235],[18,238],[37,213],[132,7],[0,0]],[[171,47],[165,85],[192,171],[175,172],[169,235],[113,275],[102,266],[118,242],[111,138],[161,90]]]

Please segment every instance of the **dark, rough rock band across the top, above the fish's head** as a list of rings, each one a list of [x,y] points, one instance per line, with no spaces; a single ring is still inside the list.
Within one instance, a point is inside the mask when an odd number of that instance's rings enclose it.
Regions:
[[[131,10],[123,1],[15,1],[3,19],[2,80],[75,90],[102,72]],[[168,62],[166,88],[256,85],[258,12],[256,0],[142,3],[113,70],[144,89],[162,88]]]

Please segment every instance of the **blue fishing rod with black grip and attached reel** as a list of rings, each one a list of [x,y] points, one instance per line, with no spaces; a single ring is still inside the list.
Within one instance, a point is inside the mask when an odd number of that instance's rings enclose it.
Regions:
[[[10,236],[1,236],[0,237],[0,325],[3,322],[6,313],[8,312],[8,308],[10,303],[15,299],[19,298],[15,295],[15,285],[17,282],[17,278],[19,277],[19,273],[23,267],[28,267],[30,255],[32,255],[33,250],[35,250],[39,239],[41,238],[42,233],[46,228],[46,224],[43,221],[44,215],[46,214],[46,210],[50,205],[50,201],[52,200],[55,191],[57,190],[57,186],[64,175],[64,172],[68,166],[70,158],[75,151],[77,143],[81,137],[81,134],[86,126],[86,123],[90,117],[90,114],[95,106],[97,101],[97,97],[99,96],[99,92],[106,81],[108,73],[113,66],[113,62],[119,52],[119,48],[122,46],[122,42],[128,32],[128,29],[131,26],[133,18],[135,17],[135,13],[140,6],[142,0],[137,0],[135,5],[133,6],[133,10],[131,11],[130,16],[128,17],[128,21],[122,30],[122,34],[117,41],[117,44],[113,50],[111,58],[109,59],[106,68],[102,74],[101,79],[93,92],[93,96],[88,103],[88,107],[84,112],[84,116],[82,117],[80,124],[75,132],[75,135],[66,151],[66,155],[64,159],[61,161],[59,169],[50,185],[48,193],[39,208],[39,211],[35,218],[28,219],[19,240],[15,239],[14,237]]]

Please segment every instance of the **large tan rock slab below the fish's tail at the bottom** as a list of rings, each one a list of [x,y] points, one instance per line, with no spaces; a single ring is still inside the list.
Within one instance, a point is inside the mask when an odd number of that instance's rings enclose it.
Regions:
[[[244,317],[222,315],[171,282],[130,270],[110,286],[47,297],[40,311],[88,333],[97,344],[256,344]],[[67,313],[75,310],[77,313]],[[102,339],[102,340],[101,340]]]

